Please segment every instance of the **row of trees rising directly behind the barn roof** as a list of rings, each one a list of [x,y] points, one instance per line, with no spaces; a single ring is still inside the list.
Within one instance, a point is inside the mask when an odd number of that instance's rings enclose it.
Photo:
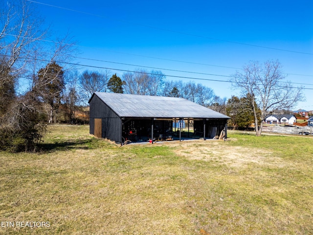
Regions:
[[[109,70],[85,70],[82,73],[72,71],[68,73],[67,80],[70,86],[65,86],[66,99],[63,102],[67,104],[71,114],[75,109],[88,106],[89,98],[94,92],[182,97],[213,109],[218,107],[219,102],[225,103],[226,99],[216,96],[211,88],[202,84],[168,81],[161,71],[137,69],[125,72],[121,77]],[[72,123],[75,118],[72,115],[70,117],[68,121]]]

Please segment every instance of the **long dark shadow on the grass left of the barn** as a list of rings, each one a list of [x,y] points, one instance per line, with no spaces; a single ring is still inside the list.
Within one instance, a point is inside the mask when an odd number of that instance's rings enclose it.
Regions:
[[[69,141],[55,141],[54,143],[42,143],[39,148],[42,152],[53,152],[59,150],[70,149],[93,149],[99,146],[99,140],[69,140]]]

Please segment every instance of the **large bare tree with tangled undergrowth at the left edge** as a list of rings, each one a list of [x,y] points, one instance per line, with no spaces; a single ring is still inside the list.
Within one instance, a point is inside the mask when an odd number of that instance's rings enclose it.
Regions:
[[[45,89],[48,83],[57,82],[49,76],[38,79],[38,71],[44,64],[52,65],[54,61],[60,64],[59,61],[70,59],[72,44],[63,38],[54,40],[55,47],[49,46],[44,40],[49,30],[42,23],[30,1],[0,1],[0,90],[4,88],[0,101],[10,99],[0,115],[1,149],[12,145],[17,151],[19,146],[27,151],[35,149],[45,129],[40,124],[42,100],[38,94],[44,90],[48,94],[49,89]],[[30,81],[23,95],[17,94],[21,75]]]

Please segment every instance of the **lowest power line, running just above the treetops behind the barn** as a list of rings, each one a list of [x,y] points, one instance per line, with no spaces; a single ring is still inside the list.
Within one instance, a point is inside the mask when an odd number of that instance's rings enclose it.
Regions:
[[[4,54],[0,54],[1,56],[8,56]],[[31,60],[37,60],[37,61],[45,61],[45,62],[51,62],[50,60],[45,60],[45,59],[38,59],[38,58],[26,58],[26,57],[20,57],[21,59],[31,59]],[[122,70],[122,69],[115,69],[115,68],[108,68],[108,67],[100,67],[100,66],[91,66],[91,65],[81,65],[77,63],[70,63],[70,62],[62,62],[62,61],[54,61],[55,63],[59,64],[68,64],[68,65],[74,65],[74,66],[83,66],[83,67],[89,67],[89,68],[97,68],[97,69],[107,69],[107,70],[115,70],[115,71],[124,71],[124,72],[137,72],[137,73],[143,73],[143,74],[149,74],[149,75],[159,75],[156,73],[152,72],[142,72],[142,71],[130,71],[130,70]],[[174,78],[186,78],[186,79],[194,79],[194,80],[203,80],[203,81],[214,81],[214,82],[226,82],[226,83],[235,83],[233,81],[224,81],[224,80],[217,80],[217,79],[208,79],[208,78],[197,78],[197,77],[185,77],[185,76],[175,76],[175,75],[166,75],[163,74],[166,77],[174,77]],[[218,75],[218,74],[213,74],[216,76],[224,76],[224,75]],[[246,84],[244,82],[241,82],[242,84]],[[258,84],[257,84],[258,85]],[[261,84],[259,84],[261,85]],[[280,85],[275,85],[275,87],[281,87],[284,88],[285,86],[280,86]],[[295,88],[295,87],[291,87]],[[313,88],[302,88],[304,90],[313,90]]]

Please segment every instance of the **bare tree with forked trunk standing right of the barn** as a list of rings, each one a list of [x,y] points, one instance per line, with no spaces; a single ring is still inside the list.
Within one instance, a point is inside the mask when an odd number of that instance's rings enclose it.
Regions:
[[[243,94],[250,95],[256,136],[261,135],[263,122],[269,112],[290,109],[298,101],[305,100],[301,87],[295,88],[291,82],[284,81],[281,67],[278,61],[266,61],[264,64],[251,61],[243,67],[243,71],[237,71],[232,75],[234,87],[239,88]],[[256,105],[261,110],[261,123],[258,121]]]

